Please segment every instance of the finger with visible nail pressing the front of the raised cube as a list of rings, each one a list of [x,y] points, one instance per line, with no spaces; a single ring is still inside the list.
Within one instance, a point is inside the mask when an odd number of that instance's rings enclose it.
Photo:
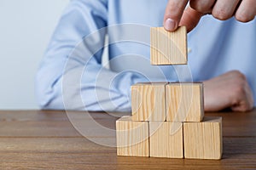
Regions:
[[[169,0],[163,23],[166,31],[175,31],[177,29],[188,2],[189,0]]]

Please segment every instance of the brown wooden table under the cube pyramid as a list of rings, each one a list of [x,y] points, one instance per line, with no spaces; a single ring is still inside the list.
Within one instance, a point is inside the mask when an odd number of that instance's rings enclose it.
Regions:
[[[124,115],[73,111],[68,116],[79,120],[86,114],[113,129],[116,116]],[[256,109],[206,115],[223,116],[220,161],[116,156],[116,148],[80,135],[65,111],[0,111],[0,169],[256,169]]]

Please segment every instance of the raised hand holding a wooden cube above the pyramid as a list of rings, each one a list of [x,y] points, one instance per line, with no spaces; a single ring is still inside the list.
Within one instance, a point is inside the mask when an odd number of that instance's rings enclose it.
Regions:
[[[187,3],[189,8],[186,8]],[[187,26],[191,31],[204,14],[212,14],[218,20],[235,16],[236,20],[248,22],[256,15],[256,0],[169,0],[164,27],[175,31],[177,26]]]

